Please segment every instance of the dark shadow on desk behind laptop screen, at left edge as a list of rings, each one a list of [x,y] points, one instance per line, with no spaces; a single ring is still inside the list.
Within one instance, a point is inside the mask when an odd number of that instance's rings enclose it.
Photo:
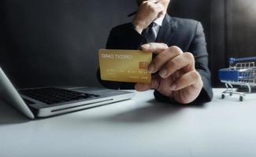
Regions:
[[[8,124],[16,124],[29,122],[24,115],[17,111],[12,106],[9,106],[6,102],[0,100],[0,126]]]

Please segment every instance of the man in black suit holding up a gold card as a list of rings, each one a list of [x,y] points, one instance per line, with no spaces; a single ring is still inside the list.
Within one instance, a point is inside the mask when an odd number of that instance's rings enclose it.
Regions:
[[[202,24],[169,16],[170,0],[137,0],[139,10],[132,23],[110,31],[106,49],[143,49],[154,53],[149,66],[152,82],[126,83],[98,80],[110,89],[155,89],[163,102],[191,104],[212,100],[208,53]]]

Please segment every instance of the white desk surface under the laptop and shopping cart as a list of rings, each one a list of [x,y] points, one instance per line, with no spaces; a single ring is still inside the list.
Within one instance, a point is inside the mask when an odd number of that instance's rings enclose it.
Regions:
[[[256,94],[177,107],[133,100],[29,120],[0,102],[0,156],[256,156]]]

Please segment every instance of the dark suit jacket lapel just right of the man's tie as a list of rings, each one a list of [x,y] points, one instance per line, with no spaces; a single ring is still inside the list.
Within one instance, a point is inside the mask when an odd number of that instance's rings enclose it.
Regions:
[[[165,15],[163,24],[161,25],[156,42],[165,43],[172,46],[173,34],[176,31],[176,23],[168,14]]]

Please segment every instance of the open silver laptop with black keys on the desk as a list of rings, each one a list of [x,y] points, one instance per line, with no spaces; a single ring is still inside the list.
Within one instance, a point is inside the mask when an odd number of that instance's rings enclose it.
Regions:
[[[94,87],[16,89],[0,68],[0,98],[30,119],[131,99],[135,93]]]

